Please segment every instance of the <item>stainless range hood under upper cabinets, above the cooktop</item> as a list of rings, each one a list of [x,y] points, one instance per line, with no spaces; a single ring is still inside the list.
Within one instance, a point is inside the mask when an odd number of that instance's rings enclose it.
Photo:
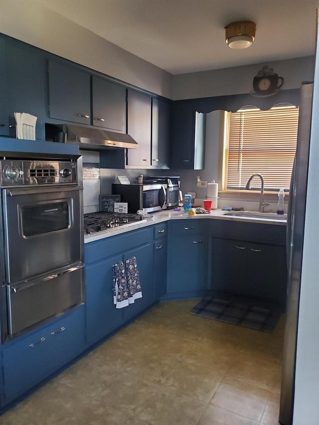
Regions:
[[[67,142],[79,142],[89,149],[101,149],[104,147],[139,147],[130,135],[109,132],[108,130],[92,129],[81,126],[64,126],[67,133]]]

